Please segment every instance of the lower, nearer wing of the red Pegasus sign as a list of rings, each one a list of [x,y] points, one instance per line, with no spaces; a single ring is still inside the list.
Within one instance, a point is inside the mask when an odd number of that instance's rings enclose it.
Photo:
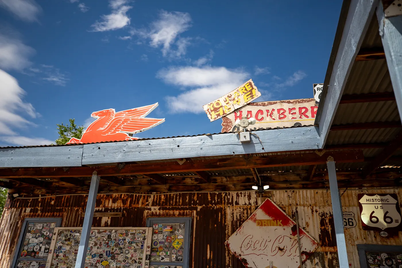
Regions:
[[[165,122],[165,119],[157,118],[133,118],[133,117],[117,117],[114,118],[107,128],[102,131],[102,135],[115,134],[117,132],[126,132],[135,134]]]

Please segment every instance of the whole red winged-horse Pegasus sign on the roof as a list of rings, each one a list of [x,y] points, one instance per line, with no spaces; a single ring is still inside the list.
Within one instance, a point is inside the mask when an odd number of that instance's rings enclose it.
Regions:
[[[71,138],[66,144],[106,141],[138,140],[128,134],[135,134],[153,128],[165,119],[145,118],[158,103],[116,112],[115,109],[96,111],[91,117],[97,118],[86,128],[81,139]]]

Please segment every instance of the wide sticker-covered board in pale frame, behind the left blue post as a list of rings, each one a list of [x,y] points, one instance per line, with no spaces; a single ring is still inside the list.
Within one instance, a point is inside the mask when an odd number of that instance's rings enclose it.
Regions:
[[[46,268],[74,268],[82,228],[55,228]],[[148,268],[151,227],[92,228],[85,258],[91,268]]]

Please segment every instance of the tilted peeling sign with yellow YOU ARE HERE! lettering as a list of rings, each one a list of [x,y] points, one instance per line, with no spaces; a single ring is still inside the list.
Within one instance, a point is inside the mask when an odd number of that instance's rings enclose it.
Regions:
[[[234,91],[204,105],[203,108],[212,122],[232,113],[234,110],[243,107],[260,96],[261,93],[250,79]]]

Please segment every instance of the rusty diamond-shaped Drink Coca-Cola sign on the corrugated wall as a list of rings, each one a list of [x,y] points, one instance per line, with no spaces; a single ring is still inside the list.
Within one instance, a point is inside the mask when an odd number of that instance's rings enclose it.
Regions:
[[[299,228],[301,260],[318,247],[306,231]],[[225,242],[246,267],[297,268],[299,247],[296,223],[269,198]]]

